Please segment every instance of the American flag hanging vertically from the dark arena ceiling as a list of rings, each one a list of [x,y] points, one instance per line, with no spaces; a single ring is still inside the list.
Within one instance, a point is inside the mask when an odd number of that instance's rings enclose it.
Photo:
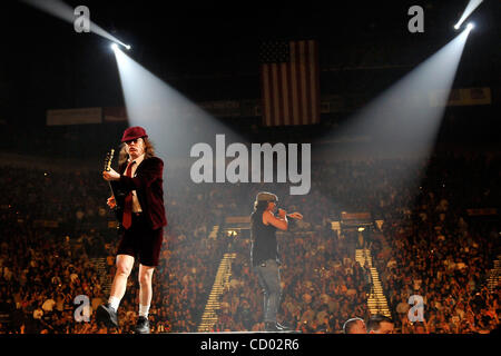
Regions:
[[[318,78],[315,40],[262,43],[263,125],[318,123]]]

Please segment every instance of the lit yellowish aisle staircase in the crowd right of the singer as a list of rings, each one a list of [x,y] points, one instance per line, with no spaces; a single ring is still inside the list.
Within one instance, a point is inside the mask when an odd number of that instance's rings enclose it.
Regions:
[[[383,285],[380,280],[380,274],[377,273],[377,268],[372,265],[372,256],[370,249],[356,249],[355,250],[355,260],[363,267],[365,263],[369,265],[371,269],[372,277],[372,288],[367,298],[369,310],[372,315],[382,314],[384,316],[391,317],[390,307],[387,306],[386,297],[384,296]]]

